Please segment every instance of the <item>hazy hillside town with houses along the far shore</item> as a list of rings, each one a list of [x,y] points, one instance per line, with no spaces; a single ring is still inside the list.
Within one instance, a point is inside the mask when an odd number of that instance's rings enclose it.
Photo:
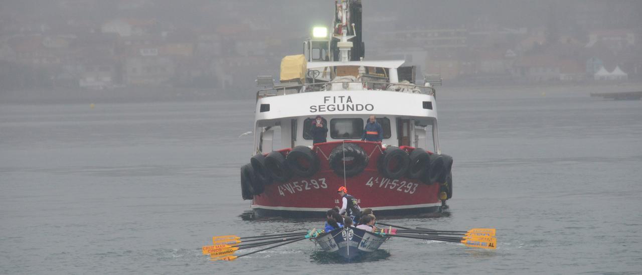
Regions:
[[[1,89],[254,89],[256,75],[278,75],[273,65],[298,54],[310,35],[312,23],[300,15],[297,24],[277,25],[278,8],[248,18],[235,16],[253,5],[247,1],[198,3],[187,21],[171,14],[182,8],[171,1],[3,4]],[[489,13],[461,24],[409,23],[419,13],[381,13],[363,19],[370,26],[366,58],[404,58],[418,75],[438,73],[451,85],[642,80],[639,3],[611,11],[602,2],[582,3],[565,13],[553,2],[539,13],[541,21],[523,23]],[[42,6],[61,16],[48,16]]]

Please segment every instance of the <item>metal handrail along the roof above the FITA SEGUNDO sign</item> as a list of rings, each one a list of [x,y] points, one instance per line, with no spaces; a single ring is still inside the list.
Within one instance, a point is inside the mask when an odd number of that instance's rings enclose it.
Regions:
[[[265,96],[277,96],[279,91],[283,91],[285,93],[286,90],[297,90],[298,93],[310,93],[310,92],[322,92],[322,91],[333,91],[329,89],[332,84],[352,84],[352,83],[359,83],[362,84],[364,87],[364,90],[366,91],[391,91],[388,90],[390,87],[400,87],[402,88],[400,91],[395,91],[395,92],[407,92],[405,89],[411,89],[412,91],[417,90],[421,94],[428,94],[431,96],[436,95],[435,88],[433,87],[428,87],[428,86],[420,86],[420,85],[415,85],[415,84],[405,84],[405,83],[391,83],[391,82],[375,82],[375,81],[338,81],[338,82],[320,82],[320,83],[308,83],[308,84],[297,84],[297,85],[287,85],[283,87],[270,87],[267,89],[260,89],[259,91],[256,92],[256,98],[262,98]],[[381,88],[383,89],[370,89],[370,85],[374,88],[375,85],[380,85]],[[267,93],[273,91],[274,93]],[[347,90],[349,91],[349,90]],[[394,90],[392,90],[394,91]],[[392,92],[391,91],[391,92]]]

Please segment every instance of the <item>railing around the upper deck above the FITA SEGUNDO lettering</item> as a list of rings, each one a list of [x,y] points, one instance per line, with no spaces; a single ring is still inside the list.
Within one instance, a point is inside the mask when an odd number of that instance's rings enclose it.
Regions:
[[[322,91],[394,91],[399,93],[419,93],[435,96],[435,88],[421,86],[409,82],[391,83],[391,82],[374,82],[374,81],[340,81],[340,82],[318,82],[298,84],[279,83],[273,87],[260,89],[256,92],[256,98],[266,96],[282,96],[286,94],[300,94]]]

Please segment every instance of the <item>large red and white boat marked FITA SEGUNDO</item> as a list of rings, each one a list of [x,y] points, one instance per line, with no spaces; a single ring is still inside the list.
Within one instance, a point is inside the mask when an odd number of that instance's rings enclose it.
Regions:
[[[453,158],[439,147],[440,76],[419,81],[404,60],[365,60],[361,1],[334,7],[332,31],[313,28],[303,53],[282,59],[278,83],[257,77],[243,199],[257,216],[324,217],[345,186],[377,215],[443,211]],[[370,116],[379,130],[364,130]],[[323,141],[313,143],[315,127],[327,131]]]

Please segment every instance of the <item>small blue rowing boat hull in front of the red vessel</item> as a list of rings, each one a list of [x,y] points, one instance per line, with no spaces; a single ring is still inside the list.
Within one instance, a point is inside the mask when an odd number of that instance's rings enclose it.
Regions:
[[[311,238],[327,253],[335,253],[345,260],[352,260],[379,249],[388,236],[371,233],[356,227],[345,227],[322,233]]]

